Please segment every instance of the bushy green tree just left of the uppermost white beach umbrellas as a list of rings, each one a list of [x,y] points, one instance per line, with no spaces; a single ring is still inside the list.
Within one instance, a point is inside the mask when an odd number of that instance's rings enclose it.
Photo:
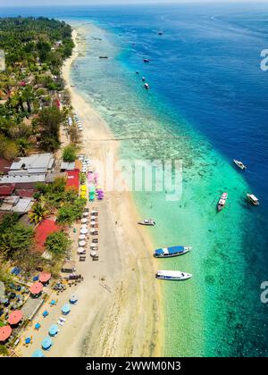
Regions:
[[[77,221],[82,217],[86,203],[86,199],[77,198],[72,204],[63,204],[57,212],[57,222],[59,224],[71,225],[74,221]]]

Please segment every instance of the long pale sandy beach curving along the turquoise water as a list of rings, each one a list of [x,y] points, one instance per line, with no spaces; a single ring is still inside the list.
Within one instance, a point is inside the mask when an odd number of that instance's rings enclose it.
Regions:
[[[83,30],[75,29],[75,48],[63,66],[63,78],[71,92],[71,104],[83,125],[81,153],[105,162],[107,155],[116,160],[118,143],[105,121],[71,87],[70,71],[74,60],[85,47],[80,38]],[[102,139],[102,141],[99,141]],[[78,262],[75,255],[78,234],[71,233],[77,273],[84,281],[67,289],[56,306],[45,305],[49,316],[41,312],[35,321],[41,323],[33,335],[33,344],[21,346],[21,354],[30,356],[47,336],[49,326],[61,316],[61,307],[75,293],[79,302],[72,307],[61,332],[46,356],[157,356],[162,353],[163,326],[161,293],[155,280],[156,264],[147,229],[138,228],[138,212],[127,192],[105,192],[105,200],[92,204],[99,212],[99,261]]]

